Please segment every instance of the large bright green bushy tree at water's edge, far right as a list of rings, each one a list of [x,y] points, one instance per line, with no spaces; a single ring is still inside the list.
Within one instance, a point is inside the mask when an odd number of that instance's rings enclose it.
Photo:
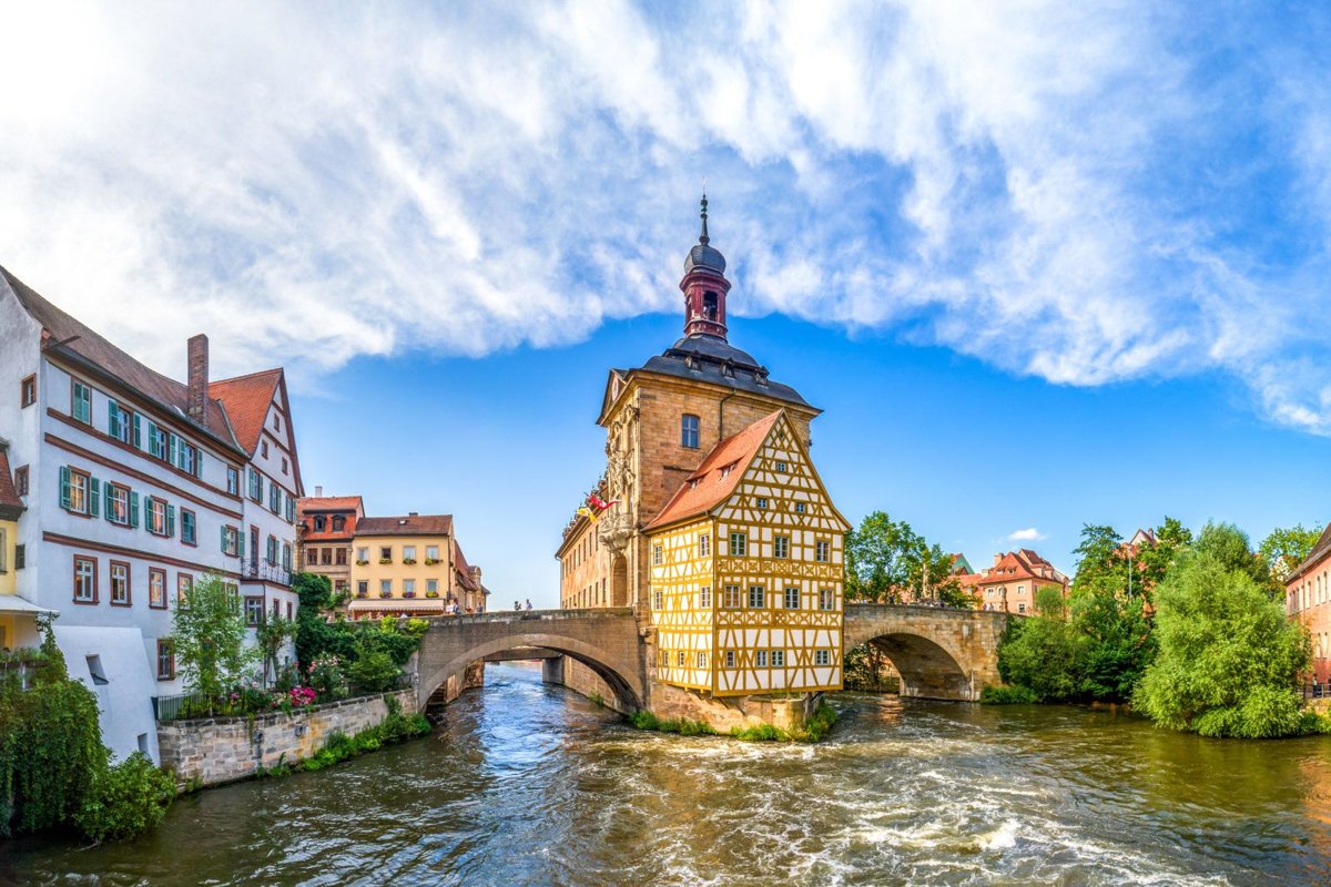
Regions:
[[[1247,537],[1207,525],[1198,551],[1155,589],[1159,653],[1133,703],[1155,723],[1207,737],[1299,731],[1295,680],[1308,636],[1254,578]]]

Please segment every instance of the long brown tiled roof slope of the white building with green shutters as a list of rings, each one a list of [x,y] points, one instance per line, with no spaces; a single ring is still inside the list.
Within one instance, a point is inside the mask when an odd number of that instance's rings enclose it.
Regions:
[[[91,327],[44,299],[36,290],[4,267],[0,267],[0,277],[8,282],[23,310],[49,334],[48,354],[64,355],[75,364],[100,370],[140,394],[145,400],[156,403],[182,424],[194,426],[228,447],[238,447],[220,404],[209,399],[204,422],[193,420],[189,416],[188,386],[164,376],[156,370],[149,370]]]

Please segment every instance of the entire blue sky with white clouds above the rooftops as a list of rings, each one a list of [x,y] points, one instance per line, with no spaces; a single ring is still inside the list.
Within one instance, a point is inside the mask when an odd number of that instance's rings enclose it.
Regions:
[[[305,481],[556,600],[606,370],[732,342],[972,564],[1331,517],[1319,4],[9,4],[0,263],[150,366],[289,374]]]

